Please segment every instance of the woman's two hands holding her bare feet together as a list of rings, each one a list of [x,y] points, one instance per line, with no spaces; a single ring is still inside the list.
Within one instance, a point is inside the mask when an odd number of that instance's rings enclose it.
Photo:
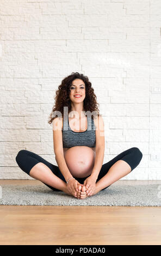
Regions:
[[[78,192],[78,185],[80,186],[85,186],[86,187],[86,194],[88,196],[92,196],[94,194],[95,188],[96,188],[96,176],[90,175],[88,178],[84,180],[84,184],[80,184],[76,179],[71,179],[67,183],[67,188],[69,192],[74,196],[77,197],[77,192]]]

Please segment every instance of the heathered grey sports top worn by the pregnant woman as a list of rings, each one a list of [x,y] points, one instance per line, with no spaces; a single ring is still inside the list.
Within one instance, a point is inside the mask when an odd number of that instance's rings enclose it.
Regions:
[[[87,117],[88,127],[84,132],[72,131],[69,125],[69,119],[63,118],[63,148],[71,148],[75,146],[96,147],[96,126],[94,119]],[[65,120],[67,119],[67,120]]]

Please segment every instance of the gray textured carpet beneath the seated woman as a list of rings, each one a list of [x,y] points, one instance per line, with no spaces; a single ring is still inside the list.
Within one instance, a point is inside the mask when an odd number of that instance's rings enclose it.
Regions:
[[[1,185],[0,205],[161,206],[161,185],[111,185],[85,199],[52,191],[45,185]],[[160,198],[159,198],[160,197]]]

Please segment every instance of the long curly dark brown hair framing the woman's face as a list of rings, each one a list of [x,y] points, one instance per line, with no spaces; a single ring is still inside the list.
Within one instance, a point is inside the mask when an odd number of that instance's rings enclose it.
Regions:
[[[91,87],[91,82],[89,82],[89,79],[87,76],[84,76],[83,74],[79,74],[78,72],[72,72],[71,75],[65,77],[62,81],[61,84],[58,87],[58,90],[56,91],[56,96],[54,97],[55,99],[55,104],[52,108],[52,112],[49,115],[49,121],[48,123],[51,124],[52,121],[54,120],[55,115],[54,111],[59,111],[61,112],[61,115],[64,117],[64,106],[68,107],[68,114],[71,112],[71,100],[70,100],[70,87],[72,84],[72,81],[75,79],[81,79],[85,83],[85,99],[83,101],[83,107],[84,111],[90,111],[91,113],[94,111],[97,114],[92,114],[91,118],[95,117],[95,115],[99,116],[101,115],[99,113],[99,109],[97,105],[100,105],[97,103],[96,95],[94,93],[94,89]]]

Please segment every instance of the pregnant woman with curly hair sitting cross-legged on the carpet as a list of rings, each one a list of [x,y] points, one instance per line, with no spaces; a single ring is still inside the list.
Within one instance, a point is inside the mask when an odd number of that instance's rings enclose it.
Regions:
[[[143,157],[136,147],[102,164],[104,122],[97,104],[87,76],[72,72],[65,77],[56,92],[48,121],[53,124],[58,166],[22,149],[16,156],[16,162],[23,172],[53,191],[64,191],[78,199],[93,196],[132,172]]]

